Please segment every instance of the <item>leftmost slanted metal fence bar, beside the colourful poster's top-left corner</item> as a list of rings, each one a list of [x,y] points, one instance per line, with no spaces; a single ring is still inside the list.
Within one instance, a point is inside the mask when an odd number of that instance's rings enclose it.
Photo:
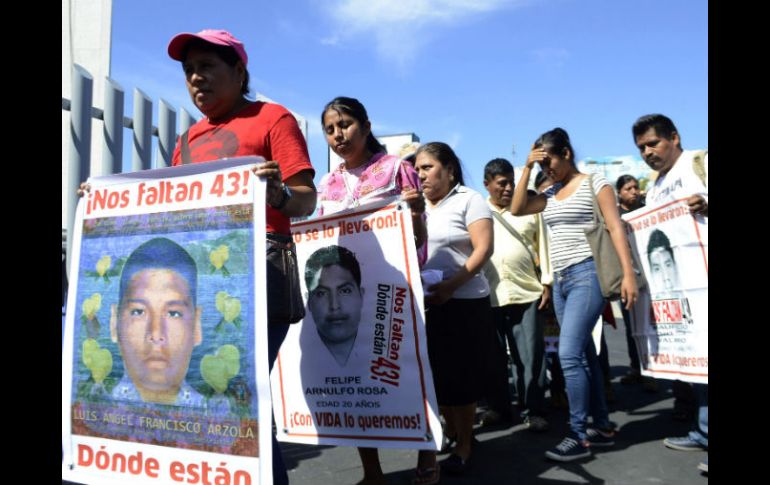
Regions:
[[[70,103],[70,153],[67,171],[67,234],[75,225],[75,209],[78,204],[77,190],[91,169],[91,104],[94,95],[94,78],[78,64],[72,66],[72,102]],[[67,261],[73,261],[72,239],[67,238]]]

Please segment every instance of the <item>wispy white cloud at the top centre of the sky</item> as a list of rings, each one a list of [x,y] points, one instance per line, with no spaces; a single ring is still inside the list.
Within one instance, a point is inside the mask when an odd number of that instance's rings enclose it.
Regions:
[[[459,24],[472,15],[517,7],[530,0],[332,0],[322,11],[334,24],[324,45],[370,36],[381,59],[404,71],[440,28]]]

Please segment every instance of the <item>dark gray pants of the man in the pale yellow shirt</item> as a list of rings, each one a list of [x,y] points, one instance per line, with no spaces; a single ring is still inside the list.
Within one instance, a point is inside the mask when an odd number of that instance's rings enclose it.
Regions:
[[[510,415],[506,344],[513,358],[516,393],[522,416],[543,416],[545,396],[545,341],[543,319],[537,311],[540,299],[532,303],[492,308],[498,348],[491,357],[486,398],[491,409]],[[504,360],[503,360],[504,359]]]

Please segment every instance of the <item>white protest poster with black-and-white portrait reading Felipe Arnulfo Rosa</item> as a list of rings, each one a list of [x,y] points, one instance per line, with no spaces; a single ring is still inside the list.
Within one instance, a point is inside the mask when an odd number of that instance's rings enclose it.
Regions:
[[[408,205],[362,206],[292,232],[307,311],[271,375],[278,439],[438,449]]]

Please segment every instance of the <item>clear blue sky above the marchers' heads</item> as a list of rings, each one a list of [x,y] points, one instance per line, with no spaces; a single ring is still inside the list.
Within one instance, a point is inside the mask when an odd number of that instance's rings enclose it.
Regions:
[[[578,159],[639,158],[631,125],[654,112],[684,148],[708,146],[707,1],[117,0],[111,76],[200,117],[166,46],[204,28],[244,42],[252,92],[307,118],[316,181],[320,111],[341,95],[375,135],[449,143],[477,190],[487,161],[522,165],[556,126]]]

